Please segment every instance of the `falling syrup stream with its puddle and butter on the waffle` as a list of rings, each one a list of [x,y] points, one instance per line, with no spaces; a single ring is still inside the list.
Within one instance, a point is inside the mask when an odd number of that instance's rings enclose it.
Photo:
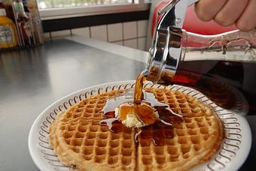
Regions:
[[[126,127],[139,127],[135,129],[136,142],[139,138],[143,139],[141,142],[148,144],[148,139],[152,139],[155,145],[164,145],[163,138],[172,136],[173,122],[181,122],[183,119],[181,115],[174,113],[168,104],[158,101],[154,94],[143,92],[147,73],[142,71],[139,74],[134,91],[128,90],[108,99],[102,110],[106,119],[100,124],[108,125],[112,132],[121,131],[121,123]]]

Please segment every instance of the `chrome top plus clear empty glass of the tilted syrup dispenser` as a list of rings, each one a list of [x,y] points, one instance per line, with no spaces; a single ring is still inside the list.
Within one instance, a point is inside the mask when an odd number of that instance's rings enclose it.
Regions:
[[[187,7],[198,0],[172,0],[158,11],[149,49],[147,80],[169,85],[180,61],[256,62],[256,30],[202,35],[182,29]],[[156,26],[156,25],[155,25]]]

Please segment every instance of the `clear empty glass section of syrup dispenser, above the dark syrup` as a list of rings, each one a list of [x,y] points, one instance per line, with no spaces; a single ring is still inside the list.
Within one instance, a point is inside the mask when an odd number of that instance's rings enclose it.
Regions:
[[[201,35],[182,31],[181,61],[256,62],[256,29]]]

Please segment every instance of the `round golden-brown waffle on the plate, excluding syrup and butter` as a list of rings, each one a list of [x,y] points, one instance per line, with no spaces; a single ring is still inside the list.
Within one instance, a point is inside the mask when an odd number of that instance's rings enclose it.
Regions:
[[[104,119],[100,111],[105,101],[120,93],[113,91],[87,98],[53,121],[49,142],[59,160],[79,170],[185,170],[209,160],[224,136],[212,108],[181,92],[154,88],[146,91],[183,115],[184,121],[174,122],[173,136],[169,136],[172,130],[148,127],[152,135],[163,136],[163,143],[154,145],[150,137],[143,135],[136,143],[131,128],[113,133],[99,125]]]

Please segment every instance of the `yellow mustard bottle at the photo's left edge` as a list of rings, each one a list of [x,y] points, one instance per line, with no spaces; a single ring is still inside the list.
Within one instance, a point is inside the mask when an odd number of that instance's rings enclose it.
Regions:
[[[0,8],[0,47],[11,48],[17,46],[16,33],[14,22],[6,17],[5,8]]]

